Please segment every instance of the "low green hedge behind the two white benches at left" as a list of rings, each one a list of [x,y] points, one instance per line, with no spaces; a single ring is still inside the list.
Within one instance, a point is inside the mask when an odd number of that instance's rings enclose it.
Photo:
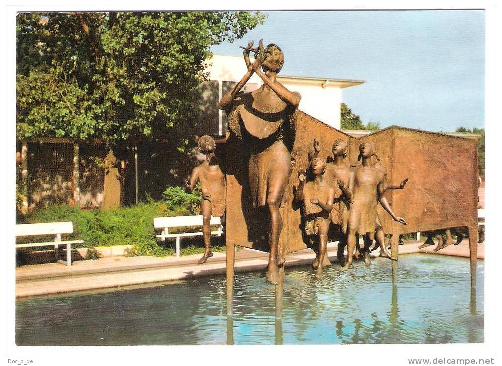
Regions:
[[[165,248],[164,243],[156,239],[153,218],[159,216],[198,215],[200,196],[197,191],[185,193],[179,187],[169,187],[164,192],[164,201],[149,200],[131,207],[117,209],[79,209],[71,206],[53,206],[29,213],[18,223],[44,223],[71,221],[74,233],[64,236],[67,240],[83,240],[76,246],[93,248],[95,246],[133,245],[128,251],[130,256],[153,255],[169,256],[174,254],[172,248]],[[184,228],[179,228],[183,231]],[[191,228],[190,230],[193,230]],[[35,238],[21,237],[19,243],[33,242]],[[41,239],[46,241],[47,238]],[[64,239],[63,239],[64,240]],[[215,241],[215,239],[213,239]],[[215,244],[217,242],[215,241]],[[202,238],[184,239],[182,255],[202,253],[204,244]],[[215,245],[213,251],[225,250],[225,247]]]

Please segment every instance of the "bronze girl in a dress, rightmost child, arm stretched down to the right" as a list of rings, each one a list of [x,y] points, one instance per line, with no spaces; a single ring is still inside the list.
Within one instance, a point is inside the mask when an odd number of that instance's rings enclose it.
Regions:
[[[356,233],[364,238],[364,261],[369,263],[369,246],[373,242],[376,227],[377,204],[390,214],[394,221],[406,224],[405,219],[397,217],[384,196],[384,172],[371,163],[374,154],[374,146],[371,142],[363,142],[359,145],[359,157],[362,164],[355,167],[350,174],[349,191],[352,192],[352,205],[347,222],[347,251],[348,258],[342,270],[352,266],[352,257],[356,246]],[[378,201],[375,200],[378,197]]]

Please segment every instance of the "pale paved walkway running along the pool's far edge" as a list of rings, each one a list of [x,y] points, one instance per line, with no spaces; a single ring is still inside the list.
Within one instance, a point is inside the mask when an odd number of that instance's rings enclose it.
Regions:
[[[399,247],[399,254],[434,253],[433,247],[418,249],[421,242],[409,242]],[[377,256],[378,250],[372,255]],[[469,244],[449,246],[437,254],[469,257]],[[207,263],[197,265],[200,254],[186,257],[109,257],[90,261],[75,261],[68,267],[59,263],[27,265],[16,268],[16,297],[138,285],[222,275],[225,273],[225,253],[214,253]],[[291,253],[286,267],[308,265],[315,254],[310,249]],[[328,257],[335,264],[336,245],[328,245]],[[478,246],[478,258],[484,259],[484,243]],[[383,260],[383,259],[382,259]],[[243,248],[236,252],[235,271],[264,270],[268,253]]]

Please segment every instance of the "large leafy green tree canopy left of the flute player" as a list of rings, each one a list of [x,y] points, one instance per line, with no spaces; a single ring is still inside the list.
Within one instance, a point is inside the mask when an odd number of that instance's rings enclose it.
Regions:
[[[185,154],[210,46],[263,20],[259,12],[20,13],[17,137],[101,137],[122,165],[142,141]]]

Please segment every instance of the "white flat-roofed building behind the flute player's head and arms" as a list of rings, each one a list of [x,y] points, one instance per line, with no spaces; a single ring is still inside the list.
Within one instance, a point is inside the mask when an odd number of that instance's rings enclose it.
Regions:
[[[208,68],[210,80],[218,83],[218,99],[234,87],[246,73],[242,56],[214,55]],[[340,103],[342,89],[364,83],[362,80],[330,78],[310,78],[277,75],[277,80],[291,91],[302,95],[299,109],[320,121],[340,129]],[[253,91],[263,84],[261,78],[253,74],[245,86],[245,91]],[[218,134],[225,132],[225,112],[218,112]]]

